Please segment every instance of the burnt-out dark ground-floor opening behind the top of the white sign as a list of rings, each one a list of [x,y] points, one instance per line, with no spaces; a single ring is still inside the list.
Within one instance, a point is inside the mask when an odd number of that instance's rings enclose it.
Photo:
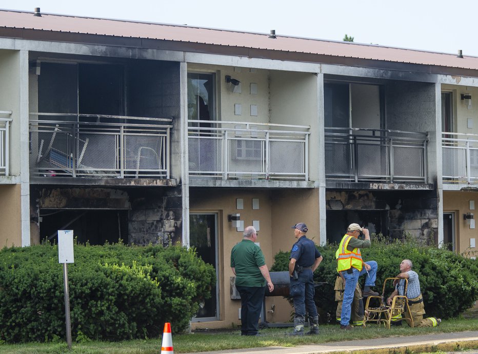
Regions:
[[[57,210],[40,211],[40,239],[57,240],[58,230],[73,230],[78,243],[104,245],[117,243],[120,239],[128,243],[127,210]]]

